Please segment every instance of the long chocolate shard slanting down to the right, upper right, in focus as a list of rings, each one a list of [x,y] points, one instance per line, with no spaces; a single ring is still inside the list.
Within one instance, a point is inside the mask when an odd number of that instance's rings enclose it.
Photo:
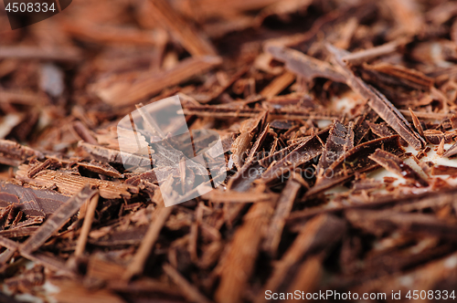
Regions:
[[[425,145],[425,141],[418,133],[412,130],[408,120],[403,117],[399,110],[377,89],[365,83],[361,78],[356,77],[354,72],[342,60],[346,52],[331,45],[327,45],[327,49],[334,55],[335,62],[338,66],[345,72],[345,83],[361,96],[368,99],[368,105],[377,112],[379,117],[385,120],[388,126],[394,131],[397,131],[401,138],[419,151]]]

